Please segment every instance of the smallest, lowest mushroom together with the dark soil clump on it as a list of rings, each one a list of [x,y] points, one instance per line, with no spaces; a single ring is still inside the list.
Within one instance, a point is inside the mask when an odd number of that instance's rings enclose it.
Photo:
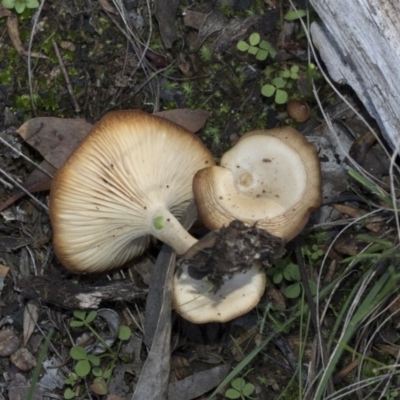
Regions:
[[[227,322],[254,308],[265,290],[265,268],[284,254],[274,235],[241,221],[211,231],[178,261],[172,303],[185,319]]]

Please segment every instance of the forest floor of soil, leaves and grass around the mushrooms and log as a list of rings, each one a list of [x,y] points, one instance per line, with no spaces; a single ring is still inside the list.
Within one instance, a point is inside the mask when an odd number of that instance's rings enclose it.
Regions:
[[[397,177],[352,90],[331,86],[310,52],[318,16],[303,3],[300,14],[289,0],[0,6],[0,399],[400,398]],[[166,118],[185,120],[217,162],[256,129],[290,125],[317,148],[322,206],[250,313],[195,325],[162,311],[151,271],[175,259],[160,243],[109,275],[57,260],[51,175],[121,109],[175,110]],[[101,304],[82,310],[93,293]]]

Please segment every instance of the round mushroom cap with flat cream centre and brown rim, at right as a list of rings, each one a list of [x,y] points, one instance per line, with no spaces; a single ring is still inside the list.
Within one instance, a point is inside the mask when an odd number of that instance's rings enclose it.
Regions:
[[[220,166],[196,173],[193,191],[209,229],[238,219],[287,241],[321,204],[317,151],[290,127],[252,131],[222,156]]]

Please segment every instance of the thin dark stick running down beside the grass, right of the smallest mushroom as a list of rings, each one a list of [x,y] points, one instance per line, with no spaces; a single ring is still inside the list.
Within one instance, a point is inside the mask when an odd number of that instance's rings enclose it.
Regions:
[[[304,258],[303,258],[303,255],[301,254],[301,239],[299,237],[296,238],[295,254],[296,254],[297,264],[299,266],[301,283],[303,285],[304,293],[306,295],[306,299],[307,299],[307,303],[308,303],[308,307],[310,309],[311,320],[313,322],[315,332],[319,332],[317,310],[316,310],[313,296],[311,294],[310,285],[308,283],[308,277],[307,277],[307,273],[306,273]],[[320,341],[320,345],[321,345],[321,351],[322,351],[321,356],[322,356],[322,360],[323,360],[323,365],[326,365],[326,360],[328,359],[328,357],[326,354],[326,343],[325,343],[325,340],[322,337],[322,335],[319,335],[319,341]],[[332,379],[330,379],[328,381],[327,390],[329,393],[333,393],[333,391],[334,391]]]

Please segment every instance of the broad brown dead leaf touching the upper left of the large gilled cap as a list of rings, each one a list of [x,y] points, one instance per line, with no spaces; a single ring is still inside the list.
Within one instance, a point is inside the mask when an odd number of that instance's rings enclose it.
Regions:
[[[17,133],[58,169],[91,128],[81,118],[38,117],[25,122]]]

